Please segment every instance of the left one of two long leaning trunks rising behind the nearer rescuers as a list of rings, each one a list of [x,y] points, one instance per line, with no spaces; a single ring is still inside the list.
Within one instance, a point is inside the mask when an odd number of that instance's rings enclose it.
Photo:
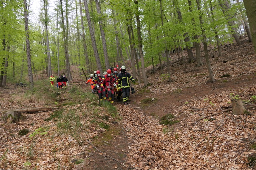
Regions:
[[[92,48],[94,51],[94,56],[96,59],[97,67],[98,67],[98,70],[100,70],[100,72],[102,73],[100,55],[98,53],[98,49],[97,49],[97,45],[96,45],[96,40],[95,40],[95,36],[94,36],[94,32],[93,32],[93,27],[92,27],[92,22],[91,22],[91,17],[90,17],[90,13],[89,13],[87,0],[84,0],[84,8],[85,8],[86,18],[87,18],[87,22],[88,22],[90,35],[91,35]]]

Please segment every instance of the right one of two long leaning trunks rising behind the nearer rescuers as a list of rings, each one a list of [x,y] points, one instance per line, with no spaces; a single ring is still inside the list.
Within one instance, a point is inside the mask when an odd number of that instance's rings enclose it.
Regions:
[[[101,15],[101,7],[99,4],[98,0],[95,0],[95,4],[96,4],[96,9],[97,9],[97,13],[100,15],[99,20],[99,25],[100,25],[100,31],[101,31],[101,40],[102,40],[102,47],[103,47],[103,54],[104,54],[104,59],[105,59],[105,66],[106,69],[110,69],[110,65],[109,65],[109,57],[107,55],[107,44],[106,44],[106,38],[105,38],[105,32],[103,29],[103,23],[102,23],[102,15]]]

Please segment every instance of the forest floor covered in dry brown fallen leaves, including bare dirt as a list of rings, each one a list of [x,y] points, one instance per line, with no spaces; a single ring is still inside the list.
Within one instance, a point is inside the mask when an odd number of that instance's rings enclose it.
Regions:
[[[82,144],[74,137],[57,132],[55,121],[44,121],[52,111],[25,114],[26,119],[15,124],[1,120],[0,169],[255,169],[256,55],[252,43],[246,40],[239,47],[235,43],[223,45],[222,52],[223,57],[217,57],[217,49],[209,50],[209,56],[215,56],[211,58],[214,83],[208,82],[203,51],[204,65],[200,67],[191,63],[184,68],[175,62],[177,55],[172,55],[172,82],[164,77],[166,68],[162,71],[158,65],[153,73],[153,68],[148,67],[151,86],[143,88],[143,83],[133,86],[137,91],[130,95],[127,106],[115,101],[120,119],[104,121],[110,125],[109,129],[97,129],[91,124],[87,129],[76,129],[85,131],[79,138]],[[186,56],[185,51],[183,55]],[[127,67],[127,72],[131,73],[128,64]],[[90,92],[78,70],[74,67],[71,70],[72,84]],[[230,77],[221,78],[224,74]],[[61,93],[67,93],[72,84]],[[26,90],[11,84],[0,89],[0,96],[4,96],[0,110],[54,106],[47,100],[37,101],[34,96],[19,99],[17,94],[26,95]],[[242,98],[248,114],[232,114],[230,93]],[[96,95],[94,98],[97,101]],[[58,100],[59,104],[66,102],[62,99]],[[69,107],[88,115],[99,109],[94,104],[91,107],[62,105],[64,109]],[[82,117],[84,124],[88,123],[87,117]],[[161,120],[168,120],[170,124],[162,125]],[[35,129],[46,125],[49,127],[47,136],[28,137]],[[31,132],[19,136],[17,133],[23,128]]]

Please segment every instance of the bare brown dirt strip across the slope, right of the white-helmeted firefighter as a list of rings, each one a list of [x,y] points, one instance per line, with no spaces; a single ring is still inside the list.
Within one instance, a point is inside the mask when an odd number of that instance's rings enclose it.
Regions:
[[[215,83],[206,83],[201,86],[187,87],[170,93],[158,93],[149,95],[149,93],[135,93],[131,95],[131,104],[134,107],[140,107],[145,114],[159,116],[168,113],[168,110],[175,109],[177,106],[184,105],[187,100],[198,98],[209,94],[217,94],[228,89],[237,89],[241,87],[252,87],[256,84],[256,75],[249,74],[241,77],[228,78],[228,81],[216,81]],[[149,87],[151,88],[151,87]],[[154,88],[154,87],[153,87]],[[155,89],[154,90],[158,90]],[[146,97],[156,98],[157,102],[148,107],[141,107],[140,101]]]

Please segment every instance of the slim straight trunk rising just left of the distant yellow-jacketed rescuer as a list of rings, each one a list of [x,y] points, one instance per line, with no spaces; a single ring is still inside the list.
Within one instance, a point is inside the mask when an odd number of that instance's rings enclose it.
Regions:
[[[49,36],[48,36],[48,22],[49,22],[49,17],[47,14],[47,6],[48,0],[43,0],[44,1],[44,24],[45,24],[45,32],[46,32],[46,45],[47,45],[47,60],[48,60],[48,76],[52,75],[52,62],[51,62],[51,56],[50,56],[50,46],[49,46]]]

